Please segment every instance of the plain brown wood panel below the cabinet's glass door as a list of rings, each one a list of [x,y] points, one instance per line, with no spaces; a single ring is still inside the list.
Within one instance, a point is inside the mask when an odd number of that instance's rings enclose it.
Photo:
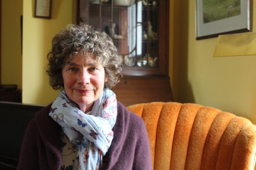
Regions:
[[[169,76],[123,77],[112,90],[125,106],[173,101]]]

